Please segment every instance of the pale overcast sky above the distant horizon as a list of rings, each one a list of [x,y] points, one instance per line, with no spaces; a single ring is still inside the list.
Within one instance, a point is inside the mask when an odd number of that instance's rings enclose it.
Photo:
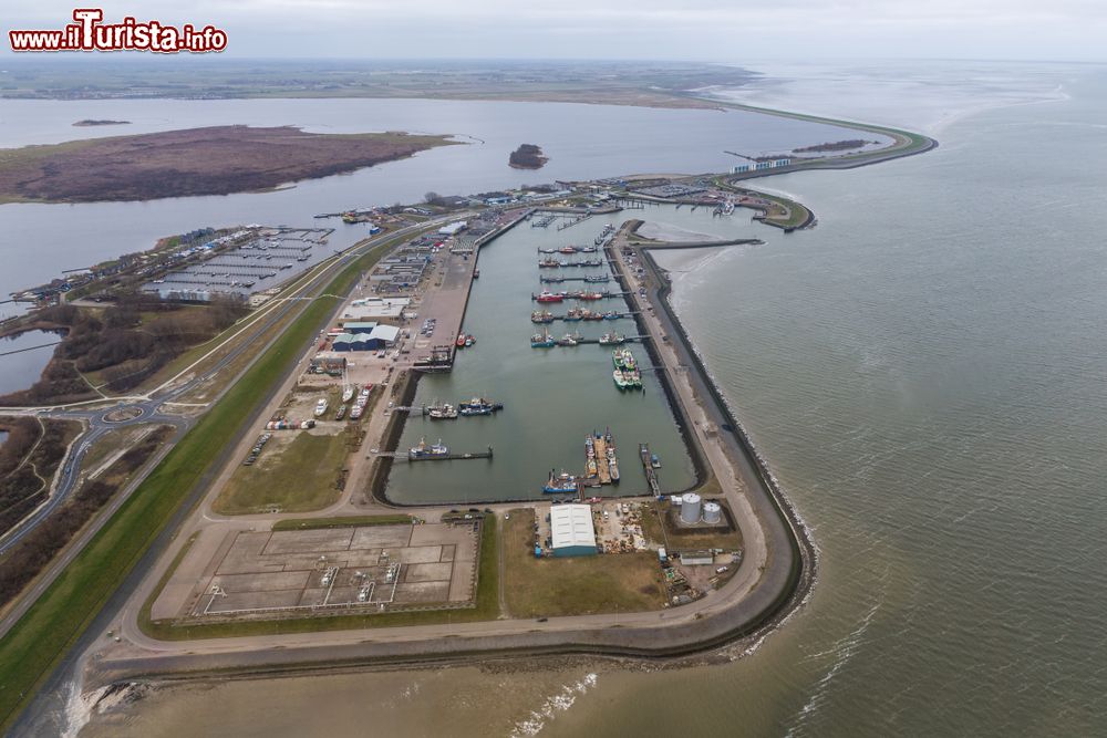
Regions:
[[[142,0],[105,20],[229,34],[236,56],[1107,61],[1107,0]],[[3,0],[4,31],[73,4]],[[8,52],[7,39],[2,44]]]

